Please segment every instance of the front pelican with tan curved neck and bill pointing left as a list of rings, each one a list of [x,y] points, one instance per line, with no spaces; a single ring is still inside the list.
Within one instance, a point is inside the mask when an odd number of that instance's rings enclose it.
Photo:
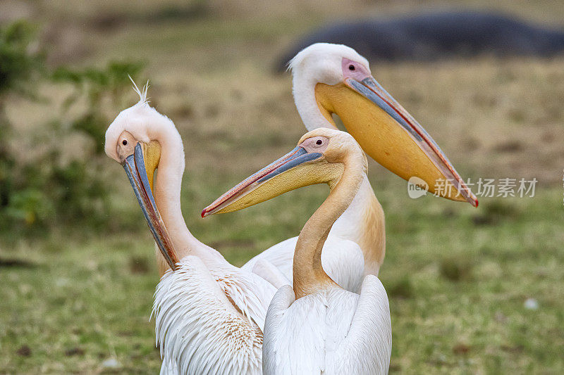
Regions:
[[[326,274],[321,262],[331,226],[353,203],[366,172],[367,159],[350,134],[314,129],[290,153],[235,186],[209,210],[231,212],[301,186],[329,185],[329,196],[298,236],[293,287],[281,287],[266,314],[264,374],[388,373],[391,320],[384,286],[368,274],[360,295],[347,291]]]

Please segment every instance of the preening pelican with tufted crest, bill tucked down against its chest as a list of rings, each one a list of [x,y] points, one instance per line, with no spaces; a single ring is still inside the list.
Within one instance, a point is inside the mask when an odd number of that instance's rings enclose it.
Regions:
[[[147,86],[135,90],[140,101],[111,123],[105,151],[123,165],[162,255],[152,313],[161,374],[261,374],[264,319],[276,288],[190,234],[180,210],[182,139],[149,106]]]

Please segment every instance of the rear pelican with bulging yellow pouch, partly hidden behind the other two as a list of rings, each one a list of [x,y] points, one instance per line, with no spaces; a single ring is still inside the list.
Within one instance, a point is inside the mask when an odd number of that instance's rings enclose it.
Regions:
[[[419,177],[431,193],[478,205],[436,142],[374,80],[368,61],[354,49],[313,44],[300,51],[289,68],[295,105],[307,130],[337,129],[332,117],[336,114],[362,149],[391,172],[406,180]],[[440,181],[446,185],[437,191]],[[202,217],[205,215],[206,210]],[[242,268],[263,277],[276,269],[292,280],[297,241],[298,237],[293,237],[278,243]],[[348,291],[358,291],[367,274],[378,276],[385,248],[384,211],[364,174],[353,203],[333,225],[321,259],[331,279]]]

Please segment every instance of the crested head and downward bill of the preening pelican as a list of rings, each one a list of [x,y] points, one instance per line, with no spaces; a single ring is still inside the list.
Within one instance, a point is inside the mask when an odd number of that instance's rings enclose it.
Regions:
[[[135,89],[141,97],[139,103],[121,111],[111,123],[106,130],[104,150],[106,155],[123,165],[157,246],[174,270],[178,257],[154,200],[153,179],[161,160],[161,144],[157,139],[176,141],[180,134],[168,117],[149,106],[147,86],[144,91],[137,86]],[[179,163],[183,170],[184,158]]]

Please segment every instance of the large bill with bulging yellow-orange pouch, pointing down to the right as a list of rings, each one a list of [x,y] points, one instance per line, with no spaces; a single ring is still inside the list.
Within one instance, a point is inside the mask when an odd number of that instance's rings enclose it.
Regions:
[[[434,139],[372,75],[317,84],[315,95],[321,113],[331,122],[331,113],[341,117],[362,149],[386,169],[406,180],[419,177],[431,193],[477,207],[476,196]]]

